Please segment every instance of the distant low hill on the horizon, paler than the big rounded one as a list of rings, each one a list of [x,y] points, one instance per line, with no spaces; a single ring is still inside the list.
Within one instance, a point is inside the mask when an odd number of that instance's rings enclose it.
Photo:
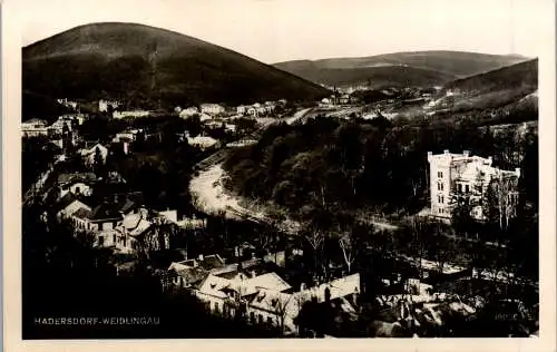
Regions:
[[[431,81],[434,84],[438,81],[447,82],[446,79],[452,80],[455,78],[473,76],[525,60],[528,59],[516,55],[498,56],[462,51],[416,51],[361,58],[333,58],[315,61],[295,60],[278,62],[274,66],[307,80],[339,86],[367,84],[368,79],[375,79],[374,72],[382,72],[384,75],[384,72],[391,70],[397,72],[401,68],[407,70],[416,69],[418,71],[412,70],[412,81],[416,81],[418,86],[428,86]],[[353,72],[353,70],[364,74],[364,77],[359,79],[358,74]],[[394,78],[398,78],[395,74],[392,75],[394,75]],[[438,75],[438,78],[431,80],[431,76],[433,75]],[[423,76],[424,78],[421,80],[420,78]],[[380,80],[380,77],[378,80]],[[404,84],[400,79],[392,82],[395,86]]]

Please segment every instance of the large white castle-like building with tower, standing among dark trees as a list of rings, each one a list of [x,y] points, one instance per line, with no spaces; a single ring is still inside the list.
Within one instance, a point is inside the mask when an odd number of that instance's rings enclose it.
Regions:
[[[430,165],[430,215],[450,221],[453,209],[452,198],[457,194],[470,199],[471,216],[485,219],[483,197],[488,187],[497,187],[502,193],[505,212],[508,217],[515,216],[518,203],[518,178],[520,169],[514,172],[494,167],[492,158],[471,156],[468,150],[462,154],[428,153]]]

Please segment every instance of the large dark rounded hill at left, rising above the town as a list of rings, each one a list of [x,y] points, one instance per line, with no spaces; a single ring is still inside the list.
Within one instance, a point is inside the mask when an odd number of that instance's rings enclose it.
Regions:
[[[232,50],[135,23],[80,26],[22,49],[23,89],[133,106],[316,99],[328,90]]]

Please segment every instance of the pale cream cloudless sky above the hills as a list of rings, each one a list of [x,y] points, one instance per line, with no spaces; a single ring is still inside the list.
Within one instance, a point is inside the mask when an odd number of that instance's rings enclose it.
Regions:
[[[553,0],[16,1],[22,46],[86,23],[136,22],[266,63],[417,50],[537,57],[554,31]]]

